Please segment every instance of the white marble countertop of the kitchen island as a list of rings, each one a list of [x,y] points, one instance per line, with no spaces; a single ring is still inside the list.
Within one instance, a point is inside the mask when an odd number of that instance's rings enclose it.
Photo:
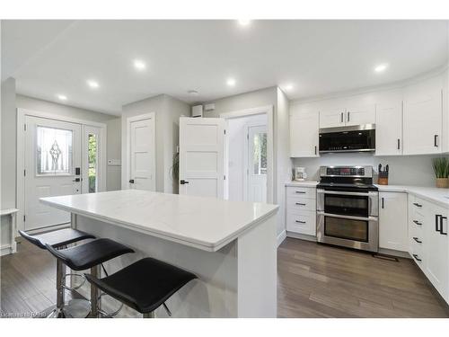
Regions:
[[[277,205],[124,190],[41,202],[85,217],[216,252],[277,213]]]

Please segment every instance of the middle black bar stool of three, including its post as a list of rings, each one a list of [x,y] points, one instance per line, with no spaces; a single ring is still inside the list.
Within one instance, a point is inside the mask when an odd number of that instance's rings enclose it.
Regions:
[[[126,253],[134,253],[128,246],[105,238],[63,250],[56,250],[48,244],[46,247],[48,252],[56,256],[58,262],[63,262],[72,270],[91,269],[91,274],[96,278],[101,277],[102,262]],[[91,287],[91,316],[98,317],[99,310],[101,310],[101,299],[98,296],[98,289]]]

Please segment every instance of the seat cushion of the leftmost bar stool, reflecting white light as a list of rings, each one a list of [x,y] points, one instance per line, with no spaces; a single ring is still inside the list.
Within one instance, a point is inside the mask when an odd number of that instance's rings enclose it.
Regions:
[[[56,231],[40,234],[40,235],[29,235],[23,231],[19,231],[20,235],[31,242],[31,244],[35,244],[42,249],[47,249],[46,244],[49,244],[53,248],[59,248],[65,246],[67,244],[73,244],[75,242],[84,240],[84,239],[94,239],[95,236],[84,233],[77,229],[72,228],[64,228],[58,229]]]

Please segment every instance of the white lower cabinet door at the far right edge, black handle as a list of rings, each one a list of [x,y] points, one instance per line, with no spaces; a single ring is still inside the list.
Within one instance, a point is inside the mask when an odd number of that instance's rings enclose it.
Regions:
[[[428,203],[427,203],[428,204]],[[448,295],[448,270],[449,270],[449,250],[448,250],[448,211],[446,208],[428,204],[426,214],[425,239],[427,263],[426,275],[438,290],[442,297],[447,299]],[[443,228],[441,228],[443,227]]]

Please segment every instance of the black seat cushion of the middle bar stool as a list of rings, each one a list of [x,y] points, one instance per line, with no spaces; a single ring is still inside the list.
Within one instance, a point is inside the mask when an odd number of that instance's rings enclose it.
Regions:
[[[86,270],[125,253],[134,253],[128,246],[105,238],[58,251],[49,245],[47,249],[72,270]]]

